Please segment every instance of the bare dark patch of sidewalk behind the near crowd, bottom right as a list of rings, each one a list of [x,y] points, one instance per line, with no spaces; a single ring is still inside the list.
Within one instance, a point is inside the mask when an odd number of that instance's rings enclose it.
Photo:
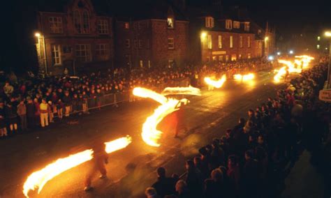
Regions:
[[[282,198],[324,197],[324,178],[310,163],[311,153],[304,150],[286,177]]]

